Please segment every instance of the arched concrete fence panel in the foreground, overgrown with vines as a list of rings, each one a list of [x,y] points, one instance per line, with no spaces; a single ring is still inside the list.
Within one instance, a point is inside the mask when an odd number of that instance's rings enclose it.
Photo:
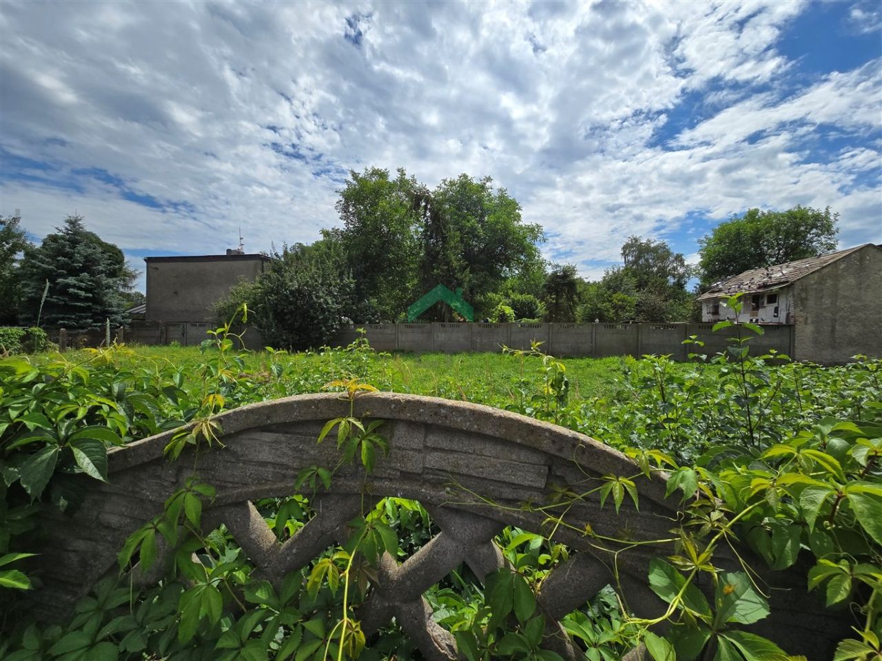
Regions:
[[[348,415],[349,406],[340,394],[306,394],[243,406],[215,418],[221,424],[223,447],[198,453],[188,448],[174,462],[163,457],[174,432],[113,450],[108,483],[89,483],[77,513],[56,515],[51,523],[53,545],[41,555],[44,587],[36,595],[43,616],[62,616],[103,575],[115,571],[116,552],[124,539],[160,514],[163,502],[195,470],[200,481],[217,492],[204,508],[204,529],[225,524],[256,569],[273,582],[341,543],[348,537],[346,523],[366,503],[370,506],[385,496],[422,502],[441,532],[401,564],[384,556],[379,581],[358,617],[369,636],[394,617],[424,657],[453,658],[455,642],[432,620],[422,597],[425,590],[462,562],[479,578],[505,564],[492,541],[505,525],[548,534],[548,513],[525,503],[548,504],[561,489],[588,492],[602,484],[605,475],[639,474],[623,454],[554,424],[468,402],[360,394],[355,416],[385,421],[381,432],[389,440],[389,454],[377,455],[370,475],[357,465],[341,467],[330,489],[320,490],[313,499],[317,514],[280,545],[251,501],[290,495],[304,468],[336,466],[334,439],[316,441],[325,422]],[[669,548],[599,542],[579,532],[590,525],[600,536],[621,540],[670,537],[678,507],[675,500],[665,500],[663,478],[635,481],[639,510],[626,500],[617,515],[609,502],[601,507],[594,494],[570,507],[566,520],[571,526],[554,530],[554,539],[574,552],[542,582],[538,604],[549,621],[547,641],[564,658],[575,658],[576,653],[557,620],[607,584],[619,590],[633,612],[663,612],[647,587],[647,565],[654,555],[669,554]],[[617,556],[614,573],[613,553],[626,546],[630,548]],[[727,561],[721,559],[723,564]],[[145,582],[156,578],[138,575]],[[832,654],[838,625],[831,626],[828,614],[805,596],[804,579],[782,573],[767,578],[789,590],[776,591],[772,617],[754,630],[809,657],[819,650]]]

